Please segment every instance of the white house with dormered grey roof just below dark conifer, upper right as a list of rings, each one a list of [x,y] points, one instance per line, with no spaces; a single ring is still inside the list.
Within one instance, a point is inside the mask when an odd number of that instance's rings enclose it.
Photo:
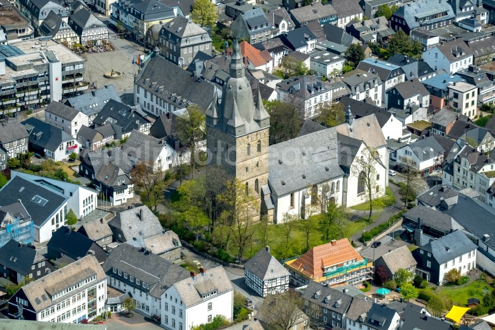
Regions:
[[[384,86],[377,74],[355,69],[345,73],[342,81],[349,86],[352,99],[364,101],[371,98],[377,106],[382,105]]]

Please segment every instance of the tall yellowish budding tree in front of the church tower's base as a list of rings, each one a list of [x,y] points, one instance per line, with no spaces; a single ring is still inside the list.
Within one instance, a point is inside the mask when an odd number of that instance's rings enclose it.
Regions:
[[[219,198],[226,205],[224,215],[229,219],[230,233],[238,248],[237,258],[242,263],[247,242],[253,234],[251,220],[258,211],[257,200],[249,187],[237,178],[227,180],[225,187]]]

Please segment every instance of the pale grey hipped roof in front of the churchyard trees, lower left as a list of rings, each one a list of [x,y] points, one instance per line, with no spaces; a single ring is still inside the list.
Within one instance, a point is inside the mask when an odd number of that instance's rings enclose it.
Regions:
[[[143,210],[144,219],[140,219],[141,210]],[[134,237],[150,237],[160,234],[163,230],[160,221],[147,206],[122,211],[110,220],[108,225],[121,230],[124,234],[122,238],[125,240],[132,240]]]

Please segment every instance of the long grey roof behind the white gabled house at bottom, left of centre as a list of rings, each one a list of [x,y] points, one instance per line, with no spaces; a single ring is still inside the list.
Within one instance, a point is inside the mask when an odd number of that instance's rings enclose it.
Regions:
[[[103,264],[103,271],[111,275],[112,267],[121,270],[126,267],[130,272],[138,275],[138,277],[134,276],[136,278],[145,275],[152,278],[147,282],[149,284],[149,294],[158,299],[174,283],[190,277],[186,269],[174,265],[171,261],[153,253],[145,253],[141,248],[127,243],[120,244],[112,250],[112,253]],[[120,280],[124,279],[120,278]],[[228,282],[230,281],[228,280]]]

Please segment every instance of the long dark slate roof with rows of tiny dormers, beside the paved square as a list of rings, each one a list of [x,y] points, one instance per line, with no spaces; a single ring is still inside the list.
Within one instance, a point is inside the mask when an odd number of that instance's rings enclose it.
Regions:
[[[213,100],[212,84],[195,79],[194,73],[162,56],[154,56],[148,60],[141,75],[136,78],[136,84],[179,109],[186,108],[191,102],[206,110]]]

